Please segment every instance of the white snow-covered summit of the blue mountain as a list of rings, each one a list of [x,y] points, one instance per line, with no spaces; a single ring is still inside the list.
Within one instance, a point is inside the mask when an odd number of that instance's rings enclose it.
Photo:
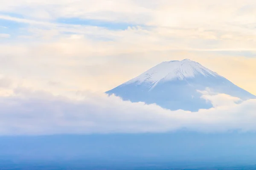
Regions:
[[[134,83],[141,84],[145,83],[154,83],[163,81],[172,81],[175,79],[183,80],[195,77],[197,75],[201,76],[219,76],[217,73],[205,68],[198,62],[194,62],[190,59],[183,59],[181,61],[166,61],[162,62],[153,68],[145,71],[143,74],[140,74],[138,77],[131,79],[124,84]]]

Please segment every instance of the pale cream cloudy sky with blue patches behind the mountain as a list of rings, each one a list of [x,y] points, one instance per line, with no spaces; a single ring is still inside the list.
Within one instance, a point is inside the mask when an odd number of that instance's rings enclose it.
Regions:
[[[13,114],[8,107],[20,106],[20,114],[27,116],[27,121],[29,113],[40,108],[27,107],[33,100],[46,102],[63,97],[74,107],[84,96],[103,95],[169,60],[200,62],[256,94],[255,0],[0,3],[1,104]],[[63,113],[53,105],[47,107],[54,116]],[[3,128],[3,133],[11,133],[10,129],[15,128]]]

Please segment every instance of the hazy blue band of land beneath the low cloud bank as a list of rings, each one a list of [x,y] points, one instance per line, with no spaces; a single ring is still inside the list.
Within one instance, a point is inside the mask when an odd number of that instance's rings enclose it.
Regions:
[[[255,169],[256,133],[0,137],[1,170]]]

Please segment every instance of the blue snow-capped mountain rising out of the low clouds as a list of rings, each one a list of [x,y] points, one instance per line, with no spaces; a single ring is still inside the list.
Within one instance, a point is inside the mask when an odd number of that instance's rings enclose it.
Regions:
[[[189,59],[162,62],[106,93],[131,102],[156,103],[170,110],[198,111],[212,108],[212,104],[202,99],[198,92],[206,88],[243,100],[256,99],[253,94]]]

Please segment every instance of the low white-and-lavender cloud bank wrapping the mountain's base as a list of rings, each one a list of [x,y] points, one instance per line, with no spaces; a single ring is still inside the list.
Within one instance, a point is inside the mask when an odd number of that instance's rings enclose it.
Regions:
[[[74,100],[16,89],[15,95],[0,97],[0,135],[256,131],[255,99],[204,92],[214,108],[190,112],[105,94],[80,95],[83,99]]]

